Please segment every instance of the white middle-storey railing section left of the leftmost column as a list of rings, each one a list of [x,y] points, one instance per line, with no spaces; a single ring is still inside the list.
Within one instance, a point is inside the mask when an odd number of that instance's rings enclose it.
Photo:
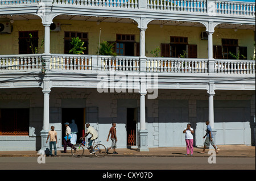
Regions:
[[[42,68],[42,54],[0,55],[1,70],[38,70]]]

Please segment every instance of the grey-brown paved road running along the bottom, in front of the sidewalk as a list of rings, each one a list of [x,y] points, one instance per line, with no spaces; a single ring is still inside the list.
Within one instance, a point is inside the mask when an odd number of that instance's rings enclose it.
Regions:
[[[255,158],[217,157],[209,164],[207,157],[46,157],[46,163],[39,157],[0,157],[0,170],[255,170]]]

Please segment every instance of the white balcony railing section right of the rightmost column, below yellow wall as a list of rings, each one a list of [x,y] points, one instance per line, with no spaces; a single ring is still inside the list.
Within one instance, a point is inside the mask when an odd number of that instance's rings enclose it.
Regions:
[[[255,61],[215,60],[214,72],[224,74],[255,74]]]

